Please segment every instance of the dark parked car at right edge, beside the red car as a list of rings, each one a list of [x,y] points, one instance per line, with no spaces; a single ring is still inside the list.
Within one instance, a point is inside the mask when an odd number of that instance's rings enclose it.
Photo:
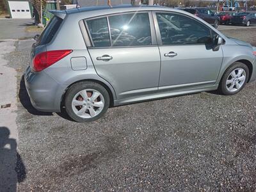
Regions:
[[[241,12],[231,16],[231,24],[243,24],[244,26],[250,26],[256,24],[256,13]]]

